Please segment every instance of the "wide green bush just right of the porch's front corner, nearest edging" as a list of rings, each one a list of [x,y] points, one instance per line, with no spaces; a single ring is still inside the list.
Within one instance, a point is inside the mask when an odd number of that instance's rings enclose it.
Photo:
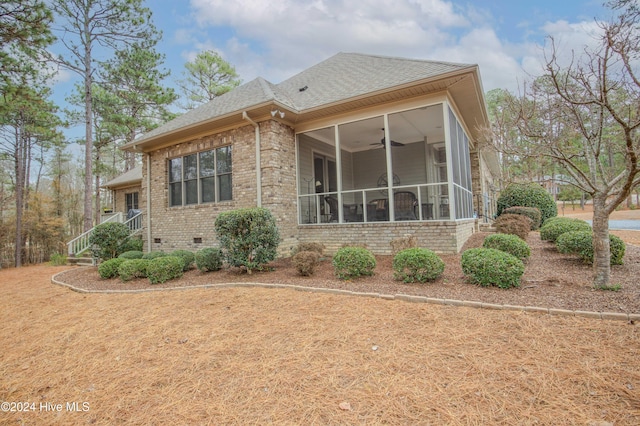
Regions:
[[[496,249],[474,248],[462,253],[462,272],[481,286],[510,288],[520,286],[524,263]]]

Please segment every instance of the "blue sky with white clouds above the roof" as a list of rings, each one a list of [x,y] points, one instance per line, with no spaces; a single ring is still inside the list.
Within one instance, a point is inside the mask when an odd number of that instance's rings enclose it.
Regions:
[[[198,52],[218,51],[244,82],[272,83],[338,52],[478,64],[485,91],[517,90],[541,74],[545,39],[568,57],[593,43],[599,0],[147,0],[163,32],[158,50],[182,78]],[[72,89],[63,74],[56,99]]]

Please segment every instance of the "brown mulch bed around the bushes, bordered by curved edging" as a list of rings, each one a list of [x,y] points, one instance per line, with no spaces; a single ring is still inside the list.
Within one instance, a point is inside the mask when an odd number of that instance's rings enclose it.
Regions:
[[[633,233],[631,233],[633,234]],[[486,233],[474,234],[463,250],[482,245]],[[633,234],[635,235],[635,234]],[[88,291],[146,290],[203,286],[221,283],[270,283],[305,287],[323,287],[361,293],[386,295],[408,294],[439,299],[479,301],[515,306],[568,309],[591,312],[622,312],[640,314],[640,247],[628,245],[624,265],[612,268],[611,283],[620,285],[619,291],[595,290],[592,269],[579,258],[558,253],[555,245],[540,240],[538,232],[530,233],[528,244],[531,258],[527,262],[522,285],[517,289],[483,288],[469,284],[462,273],[460,255],[443,255],[444,275],[429,284],[404,284],[394,281],[391,256],[377,256],[375,275],[352,281],[339,280],[334,275],[331,259],[321,262],[311,277],[297,274],[290,259],[280,259],[267,272],[248,275],[239,269],[213,273],[187,272],[179,280],[151,285],[147,279],[123,283],[119,279],[103,280],[97,268],[78,268],[60,277],[74,287]]]

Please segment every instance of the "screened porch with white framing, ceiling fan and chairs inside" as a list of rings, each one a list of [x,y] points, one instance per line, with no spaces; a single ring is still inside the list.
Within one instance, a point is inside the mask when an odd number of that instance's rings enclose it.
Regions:
[[[469,137],[446,99],[297,134],[298,223],[472,219]]]

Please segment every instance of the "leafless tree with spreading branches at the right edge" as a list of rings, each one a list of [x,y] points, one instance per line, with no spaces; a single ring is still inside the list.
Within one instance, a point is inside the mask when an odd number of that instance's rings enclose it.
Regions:
[[[594,278],[609,285],[609,216],[640,184],[640,23],[636,1],[602,23],[598,46],[568,66],[553,39],[545,75],[518,102],[519,128],[536,142],[531,154],[551,158],[593,199]]]

